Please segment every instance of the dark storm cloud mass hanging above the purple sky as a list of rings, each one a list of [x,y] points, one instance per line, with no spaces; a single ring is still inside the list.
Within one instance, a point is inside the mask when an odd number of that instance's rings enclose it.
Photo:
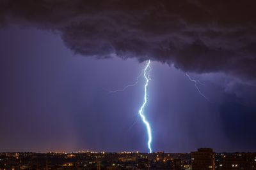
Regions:
[[[51,29],[84,56],[255,79],[255,1],[1,1],[2,25]]]

